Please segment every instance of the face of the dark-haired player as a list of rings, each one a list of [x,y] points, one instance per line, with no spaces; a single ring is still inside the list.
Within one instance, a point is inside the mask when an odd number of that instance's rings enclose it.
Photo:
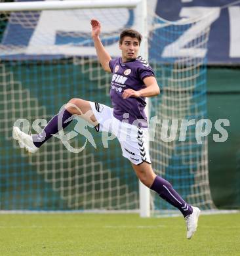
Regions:
[[[119,49],[122,51],[123,62],[134,60],[138,54],[139,42],[135,37],[123,37],[123,43],[119,44]]]

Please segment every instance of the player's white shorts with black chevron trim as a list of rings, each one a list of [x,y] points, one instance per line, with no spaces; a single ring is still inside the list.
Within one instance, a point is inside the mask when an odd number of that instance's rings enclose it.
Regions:
[[[127,122],[119,121],[113,116],[113,108],[104,104],[89,102],[99,125],[97,131],[112,133],[121,144],[123,156],[134,165],[151,163],[148,144],[146,142],[148,128],[138,128]],[[103,141],[104,143],[104,141]]]

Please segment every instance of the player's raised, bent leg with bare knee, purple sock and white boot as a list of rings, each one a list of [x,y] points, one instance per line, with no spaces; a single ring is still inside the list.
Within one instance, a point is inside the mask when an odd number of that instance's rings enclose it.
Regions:
[[[92,125],[98,125],[96,117],[92,112],[90,102],[81,98],[72,98],[57,115],[50,119],[43,131],[37,135],[28,135],[18,127],[13,127],[12,137],[18,140],[21,148],[26,148],[28,152],[35,153],[42,144],[67,127],[74,119],[74,115],[79,115]]]

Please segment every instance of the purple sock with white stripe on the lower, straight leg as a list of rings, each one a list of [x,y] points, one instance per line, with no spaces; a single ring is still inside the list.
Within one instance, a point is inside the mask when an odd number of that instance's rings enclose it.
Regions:
[[[157,192],[157,194],[159,194],[159,196],[161,196],[161,198],[169,202],[174,207],[178,208],[184,217],[190,215],[193,212],[191,205],[186,203],[180,197],[178,192],[172,188],[172,185],[165,179],[159,176],[155,177],[155,180],[151,185],[151,190],[154,190]]]

